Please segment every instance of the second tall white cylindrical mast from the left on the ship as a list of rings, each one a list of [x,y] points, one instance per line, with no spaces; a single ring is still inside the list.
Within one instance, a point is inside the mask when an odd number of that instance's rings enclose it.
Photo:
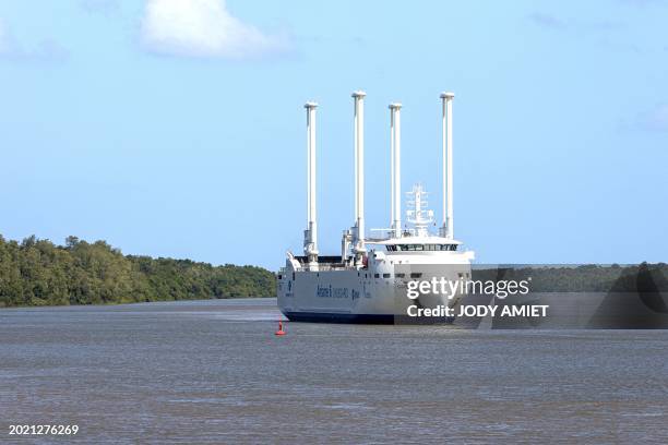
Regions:
[[[365,92],[353,93],[355,99],[355,233],[354,253],[361,261],[365,248]]]

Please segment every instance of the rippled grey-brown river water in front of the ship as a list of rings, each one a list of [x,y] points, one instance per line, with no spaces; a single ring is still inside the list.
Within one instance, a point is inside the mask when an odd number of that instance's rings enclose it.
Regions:
[[[273,299],[0,311],[11,423],[91,442],[668,442],[666,330],[287,323]]]

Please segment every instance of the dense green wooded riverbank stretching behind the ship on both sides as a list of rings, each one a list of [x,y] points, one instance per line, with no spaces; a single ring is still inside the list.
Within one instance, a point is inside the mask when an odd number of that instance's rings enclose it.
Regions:
[[[474,268],[478,279],[532,277],[533,291],[666,291],[668,265],[514,265]],[[0,309],[272,298],[275,274],[258,266],[123,255],[105,241],[0,234]],[[262,296],[262,297],[258,297]]]

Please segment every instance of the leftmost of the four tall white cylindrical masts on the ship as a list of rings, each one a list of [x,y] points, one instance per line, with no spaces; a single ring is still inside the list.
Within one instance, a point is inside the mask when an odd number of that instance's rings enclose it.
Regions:
[[[303,232],[303,253],[309,268],[318,267],[318,222],[315,214],[315,108],[318,104],[309,101],[307,110],[307,229]]]

